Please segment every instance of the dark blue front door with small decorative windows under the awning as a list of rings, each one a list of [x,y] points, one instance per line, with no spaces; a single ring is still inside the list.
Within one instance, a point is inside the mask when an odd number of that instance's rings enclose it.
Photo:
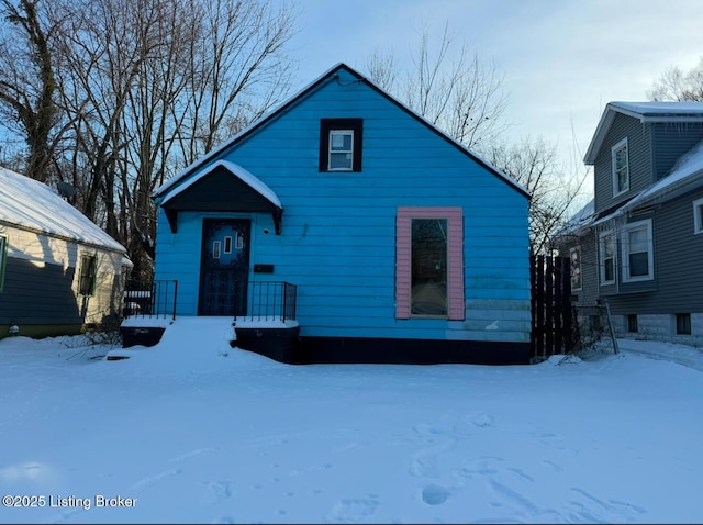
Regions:
[[[248,219],[205,219],[202,227],[199,315],[246,315]]]

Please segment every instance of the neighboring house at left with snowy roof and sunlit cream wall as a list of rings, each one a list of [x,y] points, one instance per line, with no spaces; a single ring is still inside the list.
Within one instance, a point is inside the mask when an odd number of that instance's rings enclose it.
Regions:
[[[0,168],[0,339],[119,326],[125,248],[56,190]]]

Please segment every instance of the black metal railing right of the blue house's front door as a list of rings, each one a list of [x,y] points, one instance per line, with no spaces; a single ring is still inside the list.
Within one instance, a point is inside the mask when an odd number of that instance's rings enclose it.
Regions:
[[[250,321],[293,321],[298,301],[298,287],[284,281],[257,281],[248,286],[247,315],[237,319]]]

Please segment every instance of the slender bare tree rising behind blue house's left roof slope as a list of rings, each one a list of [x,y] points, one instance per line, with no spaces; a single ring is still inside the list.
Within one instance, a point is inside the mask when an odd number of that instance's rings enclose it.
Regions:
[[[189,98],[176,120],[180,157],[190,164],[282,101],[294,63],[287,44],[298,11],[270,1],[198,1]]]

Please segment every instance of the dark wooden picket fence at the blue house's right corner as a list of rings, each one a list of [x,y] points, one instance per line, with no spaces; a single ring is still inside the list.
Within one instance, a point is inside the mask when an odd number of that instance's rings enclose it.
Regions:
[[[574,348],[571,275],[568,257],[529,257],[533,359]]]

